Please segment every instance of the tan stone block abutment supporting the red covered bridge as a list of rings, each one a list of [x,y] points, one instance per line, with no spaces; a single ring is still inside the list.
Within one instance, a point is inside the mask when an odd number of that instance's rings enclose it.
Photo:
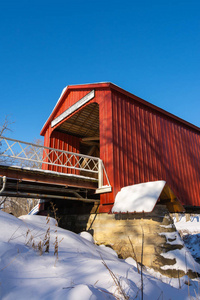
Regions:
[[[66,229],[90,232],[98,245],[112,247],[120,258],[131,256],[168,276],[184,275],[176,270],[161,269],[164,265],[174,265],[175,259],[166,259],[160,254],[183,247],[180,241],[176,244],[176,239],[171,245],[165,236],[165,233],[176,232],[176,228],[164,205],[156,205],[152,213],[145,214],[92,213],[65,217]]]

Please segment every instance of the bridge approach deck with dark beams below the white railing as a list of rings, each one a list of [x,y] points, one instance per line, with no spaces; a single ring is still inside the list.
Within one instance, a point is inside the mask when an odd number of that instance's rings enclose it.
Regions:
[[[98,188],[95,178],[0,165],[0,177],[3,176],[6,176],[6,184],[1,196],[99,201],[95,195]]]

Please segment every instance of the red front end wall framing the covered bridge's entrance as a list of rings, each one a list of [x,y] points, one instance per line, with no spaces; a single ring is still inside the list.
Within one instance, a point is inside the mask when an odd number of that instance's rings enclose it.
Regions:
[[[46,147],[52,147],[61,150],[68,150],[72,152],[79,153],[80,150],[80,141],[77,137],[69,136],[67,134],[62,134],[60,132],[55,131],[56,127],[59,126],[61,123],[57,124],[55,127],[51,128],[51,121],[55,119],[57,116],[62,114],[67,108],[75,104],[79,101],[82,97],[88,94],[92,89],[83,89],[80,91],[71,91],[65,95],[61,102],[56,107],[54,112],[54,116],[49,119],[49,124],[46,126],[44,130],[44,145]],[[87,104],[82,106],[80,109],[83,109],[86,105],[90,103],[96,102],[99,104],[99,134],[100,134],[100,158],[104,162],[104,166],[106,172],[109,176],[109,181],[111,186],[114,185],[113,181],[113,144],[112,144],[112,99],[111,99],[111,91],[107,89],[95,89],[95,98],[90,100]],[[79,110],[80,110],[79,109]],[[77,111],[79,111],[77,110]],[[76,111],[76,112],[77,112]],[[75,113],[76,113],[75,112]],[[70,117],[73,114],[70,115]],[[59,142],[59,139],[62,141]],[[63,141],[64,141],[64,148],[63,148]],[[69,144],[69,145],[68,145]],[[72,147],[70,146],[72,144]],[[68,146],[67,146],[68,145]],[[71,150],[70,150],[71,149]],[[61,171],[61,168],[53,168],[51,166],[44,165],[43,168],[64,172]],[[65,169],[66,172],[66,169]],[[105,179],[105,178],[104,178]],[[100,196],[102,204],[109,204],[113,203],[114,194],[108,193]]]

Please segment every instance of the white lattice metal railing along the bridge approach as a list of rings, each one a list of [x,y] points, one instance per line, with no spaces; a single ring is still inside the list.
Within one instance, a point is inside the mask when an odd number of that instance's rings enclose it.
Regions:
[[[97,178],[99,188],[110,186],[103,162],[98,157],[44,147],[3,136],[0,136],[0,164],[8,166],[17,164],[22,167],[56,170],[57,172],[59,170],[61,173],[70,173],[66,169],[74,170],[74,174]]]

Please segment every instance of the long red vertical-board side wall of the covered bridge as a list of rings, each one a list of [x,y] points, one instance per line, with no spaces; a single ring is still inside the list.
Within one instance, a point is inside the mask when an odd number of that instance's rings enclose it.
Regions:
[[[200,205],[200,135],[112,91],[114,194],[121,187],[166,180],[185,205]]]

